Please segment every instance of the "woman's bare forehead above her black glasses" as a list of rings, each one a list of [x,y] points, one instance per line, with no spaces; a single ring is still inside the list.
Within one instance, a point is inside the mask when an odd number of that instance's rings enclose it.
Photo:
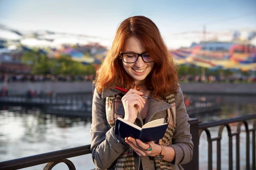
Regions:
[[[140,39],[137,37],[129,37],[125,40],[123,52],[143,53],[145,52],[145,48]]]

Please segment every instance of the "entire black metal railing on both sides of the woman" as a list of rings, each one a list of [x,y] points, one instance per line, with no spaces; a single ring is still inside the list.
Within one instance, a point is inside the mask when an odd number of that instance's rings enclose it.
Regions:
[[[253,120],[253,128],[249,129],[248,120]],[[232,132],[230,123],[238,122],[237,131]],[[229,138],[229,170],[233,170],[233,151],[232,151],[232,137],[236,136],[236,170],[240,169],[239,150],[240,142],[239,135],[241,133],[241,125],[244,124],[246,132],[246,170],[250,170],[250,132],[252,132],[252,170],[256,169],[256,155],[255,155],[255,132],[256,132],[256,114],[241,116],[231,119],[223,119],[216,122],[200,123],[198,119],[190,119],[190,132],[192,134],[192,141],[194,143],[194,152],[192,160],[188,164],[182,165],[183,168],[193,170],[199,169],[199,139],[203,131],[207,134],[208,141],[208,170],[212,170],[212,142],[217,141],[217,170],[221,170],[221,139],[224,127],[227,127]],[[212,138],[209,127],[218,127],[218,137]],[[10,161],[0,162],[0,170],[17,170],[25,167],[31,167],[39,164],[48,163],[44,170],[51,170],[56,164],[64,162],[67,164],[69,170],[76,170],[74,164],[67,158],[81,156],[90,153],[90,145],[81,147],[73,147],[65,150],[58,150],[49,153],[43,153],[35,156],[28,156],[20,159],[13,159]]]

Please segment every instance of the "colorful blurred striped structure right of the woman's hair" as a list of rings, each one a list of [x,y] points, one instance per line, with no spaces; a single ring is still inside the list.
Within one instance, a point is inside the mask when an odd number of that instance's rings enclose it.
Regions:
[[[212,70],[256,71],[256,47],[249,42],[208,41],[170,53],[180,65],[197,65]]]

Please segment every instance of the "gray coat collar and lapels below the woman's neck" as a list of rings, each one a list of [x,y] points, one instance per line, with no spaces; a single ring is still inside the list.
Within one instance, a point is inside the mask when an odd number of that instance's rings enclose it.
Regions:
[[[102,91],[102,99],[108,97],[108,96],[113,96],[116,94],[121,94],[121,95],[125,95],[124,92],[119,91],[117,89],[114,88],[114,86],[112,86],[111,88],[106,88],[103,89]],[[160,99],[155,99],[155,98],[151,98],[150,99],[150,104],[149,104],[149,108],[148,108],[148,114],[146,116],[146,120],[145,122],[150,121],[150,119],[154,116],[155,113],[160,112],[160,111],[164,111],[168,108],[171,108],[172,105],[167,103],[164,100],[160,100]],[[121,114],[121,115],[125,115],[125,109],[123,105],[120,105],[117,109],[116,112],[117,114]],[[140,114],[137,114],[137,118],[141,119]]]

